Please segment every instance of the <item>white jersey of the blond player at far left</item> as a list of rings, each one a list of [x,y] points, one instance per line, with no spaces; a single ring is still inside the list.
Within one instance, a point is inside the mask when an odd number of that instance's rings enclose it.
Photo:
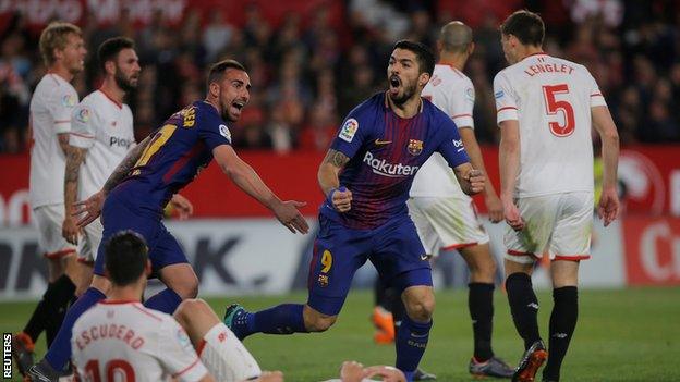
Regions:
[[[48,73],[38,83],[31,99],[31,207],[63,204],[65,156],[58,134],[71,131],[71,111],[78,102],[77,93],[64,78]]]

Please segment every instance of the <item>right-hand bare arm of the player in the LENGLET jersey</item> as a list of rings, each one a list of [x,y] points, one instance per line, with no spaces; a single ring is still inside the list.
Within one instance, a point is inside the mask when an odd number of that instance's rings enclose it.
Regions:
[[[603,162],[603,193],[597,206],[597,214],[609,225],[619,215],[619,196],[617,194],[617,168],[619,163],[619,133],[617,132],[609,109],[597,106],[591,109],[593,127],[602,140]]]

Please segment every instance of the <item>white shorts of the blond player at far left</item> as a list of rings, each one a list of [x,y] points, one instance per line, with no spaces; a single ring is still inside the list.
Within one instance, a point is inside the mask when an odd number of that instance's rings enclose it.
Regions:
[[[63,204],[35,208],[33,217],[38,227],[38,244],[45,257],[57,259],[75,252],[75,246],[61,236],[61,225],[64,219]]]

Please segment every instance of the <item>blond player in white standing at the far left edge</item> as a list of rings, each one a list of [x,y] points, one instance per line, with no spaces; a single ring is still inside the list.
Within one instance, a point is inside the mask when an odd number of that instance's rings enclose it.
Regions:
[[[33,363],[34,343],[42,330],[47,343],[51,343],[80,282],[75,257],[70,256],[75,252],[75,246],[61,237],[61,222],[71,111],[78,102],[70,82],[83,71],[87,50],[81,29],[61,22],[51,23],[42,30],[39,47],[47,73],[38,83],[29,106],[33,145],[28,193],[40,249],[48,259],[49,285],[26,326],[12,341],[12,353],[21,373]]]

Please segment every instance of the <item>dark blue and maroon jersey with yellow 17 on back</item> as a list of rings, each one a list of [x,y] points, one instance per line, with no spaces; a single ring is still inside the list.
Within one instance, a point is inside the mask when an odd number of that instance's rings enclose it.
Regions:
[[[231,145],[227,123],[210,103],[196,101],[151,133],[139,160],[112,193],[134,210],[161,215],[172,195],[208,165],[220,145]]]

